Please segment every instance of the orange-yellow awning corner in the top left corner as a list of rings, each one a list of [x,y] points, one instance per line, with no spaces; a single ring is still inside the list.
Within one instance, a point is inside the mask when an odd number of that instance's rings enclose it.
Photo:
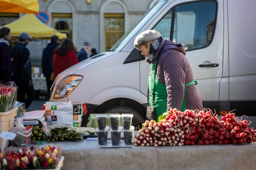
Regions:
[[[0,0],[0,12],[38,13],[37,0]]]

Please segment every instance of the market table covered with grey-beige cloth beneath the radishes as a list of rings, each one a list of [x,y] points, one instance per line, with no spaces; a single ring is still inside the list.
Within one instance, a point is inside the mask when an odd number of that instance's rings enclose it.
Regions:
[[[111,140],[108,140],[108,143]],[[97,141],[50,144],[62,148],[65,169],[256,169],[256,143],[244,145],[99,148]],[[41,145],[41,147],[46,145]]]

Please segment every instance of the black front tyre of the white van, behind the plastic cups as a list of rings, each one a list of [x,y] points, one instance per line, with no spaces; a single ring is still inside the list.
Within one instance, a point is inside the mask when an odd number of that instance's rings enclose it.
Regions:
[[[139,112],[137,112],[136,110],[130,107],[125,107],[125,106],[111,107],[110,109],[104,111],[103,113],[133,114],[132,124],[141,123],[145,121],[144,118],[139,114]]]

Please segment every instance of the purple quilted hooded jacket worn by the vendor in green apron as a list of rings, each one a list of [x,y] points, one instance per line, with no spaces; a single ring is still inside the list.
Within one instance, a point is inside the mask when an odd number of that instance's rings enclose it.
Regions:
[[[161,49],[163,49],[162,52]],[[166,85],[167,111],[170,108],[180,110],[184,98],[185,84],[193,81],[192,69],[185,57],[186,52],[183,44],[162,39],[154,60],[160,52],[157,78],[162,84]],[[195,84],[186,88],[186,109],[203,110],[202,99],[196,90]]]

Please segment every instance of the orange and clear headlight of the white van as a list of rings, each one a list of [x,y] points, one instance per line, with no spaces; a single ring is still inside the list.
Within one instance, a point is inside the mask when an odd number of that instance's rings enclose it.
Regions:
[[[57,85],[53,98],[63,98],[68,96],[81,82],[83,76],[70,75],[62,79]]]

